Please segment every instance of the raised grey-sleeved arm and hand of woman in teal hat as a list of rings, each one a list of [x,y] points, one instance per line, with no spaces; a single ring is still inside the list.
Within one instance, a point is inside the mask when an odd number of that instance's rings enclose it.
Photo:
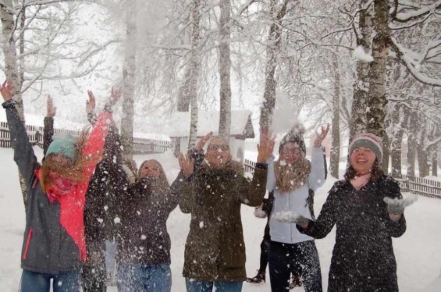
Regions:
[[[11,94],[12,88],[13,86],[7,84],[7,81],[1,86],[0,92],[4,99],[2,106],[6,112],[10,142],[14,147],[14,161],[25,178],[26,185],[29,185],[34,175],[34,170],[39,167],[39,164],[32,145],[29,143],[25,124],[20,120],[19,113],[15,108]]]

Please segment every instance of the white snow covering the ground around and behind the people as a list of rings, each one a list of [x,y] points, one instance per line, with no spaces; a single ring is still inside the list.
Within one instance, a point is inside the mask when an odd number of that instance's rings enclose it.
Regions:
[[[41,159],[42,151],[34,147],[37,157]],[[246,157],[255,160],[255,154],[246,152]],[[18,183],[17,167],[13,161],[13,150],[0,148],[2,164],[0,166],[0,283],[1,291],[18,291],[21,269],[20,253],[25,228],[25,211]],[[178,173],[177,160],[172,153],[149,156],[136,156],[139,165],[145,159],[157,159],[164,167],[169,182]],[[344,164],[341,172],[343,173]],[[325,185],[316,192],[315,211],[319,213],[326,200],[327,191],[335,179],[328,177]],[[408,196],[408,193],[403,194]],[[246,270],[249,277],[255,275],[259,267],[260,243],[263,237],[266,219],[257,219],[254,208],[242,207],[242,220],[246,246]],[[397,260],[398,285],[401,292],[438,292],[441,291],[441,200],[419,196],[418,201],[406,209],[407,231],[403,236],[393,239]],[[167,222],[172,239],[172,291],[185,291],[182,277],[184,247],[189,231],[190,215],[183,214],[176,208]],[[323,279],[323,290],[326,291],[328,271],[332,248],[335,242],[335,229],[324,239],[317,240],[320,265]],[[108,291],[117,291],[109,287]],[[252,285],[244,283],[245,292],[270,291],[269,275],[267,283]],[[303,288],[295,288],[301,292]]]

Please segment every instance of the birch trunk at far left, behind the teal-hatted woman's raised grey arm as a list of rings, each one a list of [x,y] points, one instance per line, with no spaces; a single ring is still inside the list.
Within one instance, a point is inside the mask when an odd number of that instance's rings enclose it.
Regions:
[[[14,42],[14,29],[15,29],[15,21],[14,21],[14,6],[12,0],[4,0],[2,4],[0,4],[0,16],[1,16],[1,30],[2,30],[2,39],[3,39],[3,56],[4,56],[4,74],[6,76],[6,80],[14,85],[14,89],[12,90],[12,98],[15,101],[15,107],[19,113],[20,119],[25,122],[25,112],[23,107],[23,99],[21,94],[21,86],[23,84],[23,75],[19,74],[18,69],[18,59],[17,59],[17,48]],[[24,45],[23,43],[20,44]],[[19,182],[20,188],[22,189],[23,202],[25,204],[26,211],[26,194],[27,187],[25,178],[23,178],[20,170],[19,174]]]

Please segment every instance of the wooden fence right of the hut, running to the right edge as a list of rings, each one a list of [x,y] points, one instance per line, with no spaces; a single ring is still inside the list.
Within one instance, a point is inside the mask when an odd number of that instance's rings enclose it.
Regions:
[[[245,159],[245,171],[253,173],[256,162]],[[417,195],[422,195],[430,198],[441,199],[441,181],[428,180],[408,175],[401,175],[400,178],[395,178],[400,184],[401,191],[411,192]]]

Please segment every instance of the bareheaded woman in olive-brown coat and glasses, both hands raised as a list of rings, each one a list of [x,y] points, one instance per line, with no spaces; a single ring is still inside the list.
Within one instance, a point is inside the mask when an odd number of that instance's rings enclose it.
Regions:
[[[217,292],[242,290],[246,273],[241,204],[259,206],[262,202],[266,161],[273,147],[274,140],[262,133],[251,182],[244,177],[243,165],[231,159],[228,142],[221,138],[209,143],[196,168],[194,158],[180,155],[179,164],[187,179],[179,192],[179,207],[192,215],[184,252],[187,291],[211,292],[213,287]]]

